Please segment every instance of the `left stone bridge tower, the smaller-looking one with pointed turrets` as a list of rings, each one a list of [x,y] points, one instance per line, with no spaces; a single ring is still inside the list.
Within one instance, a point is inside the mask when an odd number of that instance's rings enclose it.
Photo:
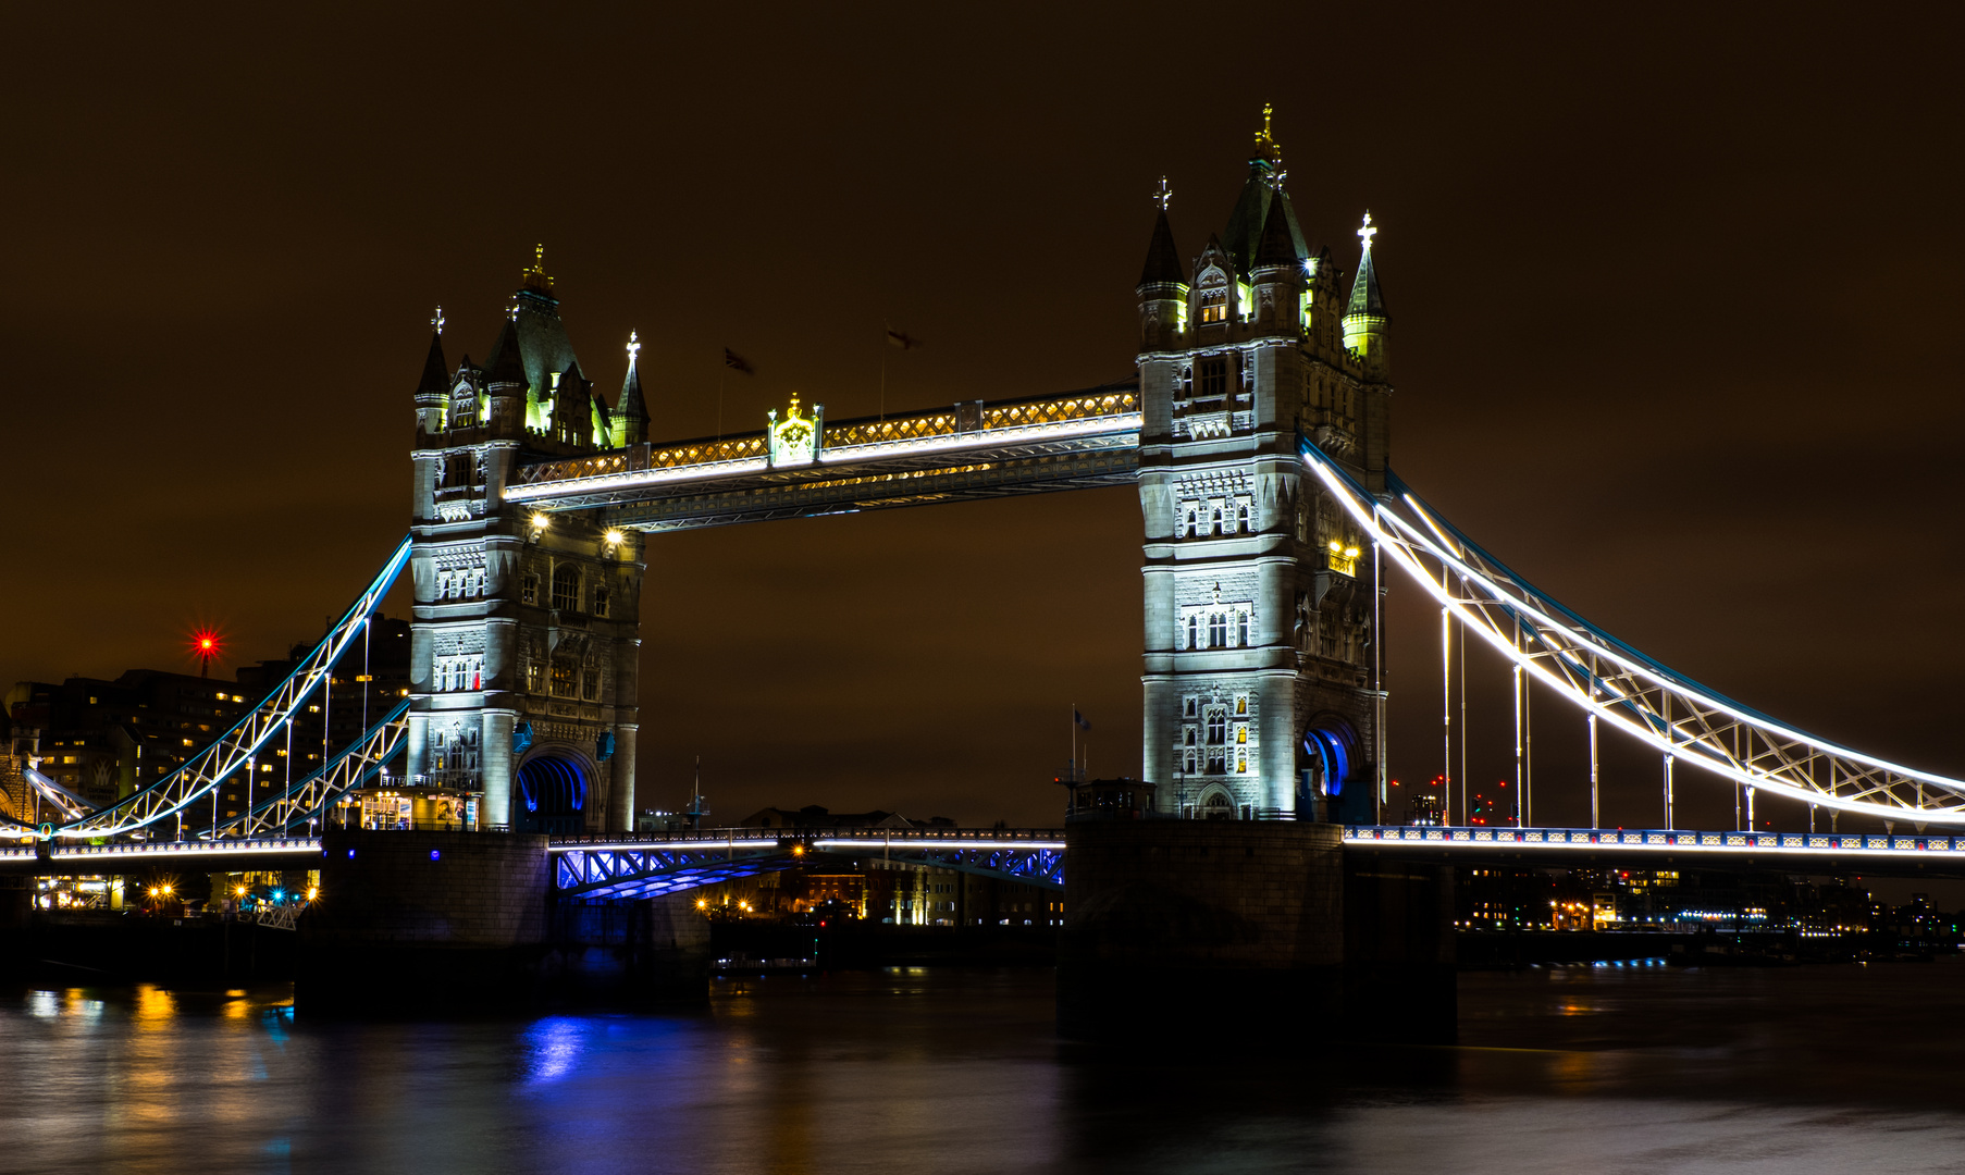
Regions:
[[[411,794],[477,794],[479,827],[633,827],[643,536],[505,503],[525,460],[646,440],[635,342],[613,409],[574,356],[544,250],[479,367],[417,383]]]

